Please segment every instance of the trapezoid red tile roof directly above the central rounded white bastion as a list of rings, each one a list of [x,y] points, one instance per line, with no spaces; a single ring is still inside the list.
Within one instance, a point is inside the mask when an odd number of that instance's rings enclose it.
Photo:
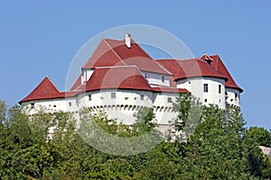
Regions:
[[[94,70],[86,85],[86,91],[112,88],[152,90],[145,77],[135,66],[98,67]]]

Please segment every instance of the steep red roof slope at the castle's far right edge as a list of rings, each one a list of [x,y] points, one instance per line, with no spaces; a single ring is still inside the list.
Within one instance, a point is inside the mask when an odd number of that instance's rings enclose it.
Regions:
[[[213,67],[216,71],[218,71],[220,74],[227,76],[228,81],[226,82],[225,86],[226,87],[231,87],[238,89],[240,93],[243,92],[243,89],[241,89],[233,80],[232,76],[230,76],[229,71],[227,67],[223,64],[221,58],[219,55],[212,55],[210,58],[213,60],[212,63],[210,64],[211,67]]]

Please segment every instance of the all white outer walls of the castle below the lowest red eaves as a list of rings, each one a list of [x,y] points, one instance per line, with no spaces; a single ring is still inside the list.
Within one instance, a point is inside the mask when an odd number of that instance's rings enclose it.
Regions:
[[[203,92],[203,84],[209,85],[208,93]],[[219,94],[219,85],[221,85],[221,93]],[[201,103],[215,103],[220,108],[226,108],[225,97],[225,81],[220,78],[213,77],[194,77],[183,79],[177,82],[177,87],[186,88],[192,94],[200,98]],[[237,89],[227,88],[227,102],[239,105],[239,92]],[[111,93],[116,93],[116,98],[111,98]],[[235,99],[235,94],[238,94]],[[89,101],[89,94],[91,100]],[[141,95],[144,99],[141,99]],[[30,109],[33,114],[44,107],[50,112],[63,111],[74,112],[78,114],[83,107],[90,107],[92,112],[104,110],[111,118],[117,118],[117,121],[123,121],[127,125],[135,122],[134,114],[141,107],[154,108],[155,119],[160,125],[168,125],[177,116],[177,112],[173,112],[173,103],[168,102],[169,98],[174,102],[177,93],[153,93],[150,91],[123,90],[123,89],[107,89],[100,91],[92,91],[79,94],[76,97],[59,98],[51,100],[37,100],[33,102],[23,103],[24,108]],[[204,102],[207,99],[207,103]],[[31,103],[34,103],[34,109],[31,109]]]

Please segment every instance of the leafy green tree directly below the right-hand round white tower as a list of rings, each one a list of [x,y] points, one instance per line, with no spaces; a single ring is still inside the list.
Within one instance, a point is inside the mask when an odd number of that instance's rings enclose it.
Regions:
[[[205,106],[201,122],[188,139],[182,174],[189,179],[244,178],[239,134],[229,133],[226,112],[217,105]]]

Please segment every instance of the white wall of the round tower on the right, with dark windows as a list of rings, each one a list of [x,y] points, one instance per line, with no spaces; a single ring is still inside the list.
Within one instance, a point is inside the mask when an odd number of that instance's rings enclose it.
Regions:
[[[203,92],[203,85],[208,84],[208,92]],[[219,85],[221,93],[219,94]],[[225,80],[216,77],[192,77],[177,81],[177,87],[186,88],[203,104],[218,104],[221,109],[226,109],[225,102]],[[205,102],[207,100],[207,102]]]

